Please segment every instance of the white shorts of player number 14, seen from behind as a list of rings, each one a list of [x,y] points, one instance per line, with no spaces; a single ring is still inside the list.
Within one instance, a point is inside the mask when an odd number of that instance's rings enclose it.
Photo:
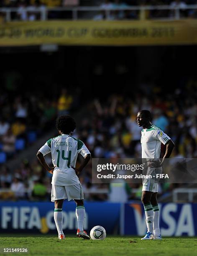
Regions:
[[[52,185],[51,202],[55,202],[55,200],[60,199],[67,199],[68,201],[72,199],[83,200],[84,192],[82,189],[82,185],[80,183],[69,186]]]

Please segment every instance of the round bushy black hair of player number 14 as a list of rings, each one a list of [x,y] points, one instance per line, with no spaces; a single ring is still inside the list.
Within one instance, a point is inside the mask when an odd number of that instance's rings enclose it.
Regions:
[[[76,123],[74,118],[69,115],[61,115],[56,120],[56,128],[64,134],[74,131]]]

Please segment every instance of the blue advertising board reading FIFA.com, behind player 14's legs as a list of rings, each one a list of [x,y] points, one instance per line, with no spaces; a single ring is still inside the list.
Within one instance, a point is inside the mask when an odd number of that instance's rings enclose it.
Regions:
[[[76,204],[66,202],[63,207],[63,230],[75,233],[77,218]],[[118,232],[120,204],[87,202],[84,230],[101,225],[107,233]],[[0,233],[51,233],[56,232],[54,204],[51,202],[0,202]]]

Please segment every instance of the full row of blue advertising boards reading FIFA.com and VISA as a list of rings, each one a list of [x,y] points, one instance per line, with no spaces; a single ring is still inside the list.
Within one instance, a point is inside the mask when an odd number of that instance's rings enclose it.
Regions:
[[[75,203],[63,207],[63,230],[75,233],[77,218]],[[143,205],[110,202],[86,202],[84,230],[90,232],[101,225],[107,234],[143,236],[146,221]],[[160,208],[162,236],[197,236],[197,204],[163,203]],[[51,202],[0,202],[0,233],[56,233],[54,204]]]

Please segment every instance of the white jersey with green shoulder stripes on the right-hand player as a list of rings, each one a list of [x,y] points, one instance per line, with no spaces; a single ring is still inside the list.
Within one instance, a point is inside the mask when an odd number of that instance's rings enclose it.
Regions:
[[[159,158],[161,142],[165,145],[170,137],[159,127],[151,124],[141,131],[142,158]]]

